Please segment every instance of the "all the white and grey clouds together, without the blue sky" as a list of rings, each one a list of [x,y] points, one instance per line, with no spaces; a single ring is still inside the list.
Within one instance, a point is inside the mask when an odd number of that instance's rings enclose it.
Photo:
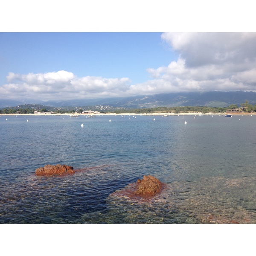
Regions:
[[[68,71],[9,73],[0,87],[2,98],[90,99],[157,93],[244,90],[256,91],[256,33],[163,33],[178,53],[168,66],[148,67],[151,79],[131,84],[125,77],[77,77]],[[140,72],[138,70],[138,72]]]

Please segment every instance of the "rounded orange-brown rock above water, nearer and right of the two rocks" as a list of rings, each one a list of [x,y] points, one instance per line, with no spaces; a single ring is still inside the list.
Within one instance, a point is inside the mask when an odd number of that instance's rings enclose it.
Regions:
[[[133,193],[134,195],[154,195],[160,192],[162,185],[157,178],[144,175],[142,180],[137,180],[137,187]]]

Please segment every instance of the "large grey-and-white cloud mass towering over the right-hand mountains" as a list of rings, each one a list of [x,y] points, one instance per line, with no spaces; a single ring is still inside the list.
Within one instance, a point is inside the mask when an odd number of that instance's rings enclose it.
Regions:
[[[179,53],[178,60],[149,68],[153,80],[134,90],[256,91],[256,33],[163,33],[161,37]]]

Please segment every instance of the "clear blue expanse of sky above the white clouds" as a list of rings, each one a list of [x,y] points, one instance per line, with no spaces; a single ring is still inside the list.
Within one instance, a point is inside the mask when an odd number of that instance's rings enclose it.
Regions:
[[[161,33],[0,33],[0,78],[9,72],[47,73],[66,70],[76,76],[150,78],[146,69],[177,59]]]

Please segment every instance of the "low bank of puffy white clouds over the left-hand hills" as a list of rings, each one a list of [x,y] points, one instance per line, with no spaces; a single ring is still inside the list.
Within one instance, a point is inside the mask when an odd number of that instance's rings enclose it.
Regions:
[[[117,97],[129,88],[129,79],[102,77],[76,77],[64,70],[58,72],[19,75],[9,73],[9,84],[0,87],[0,95],[6,99],[14,94],[27,99],[84,99]]]

